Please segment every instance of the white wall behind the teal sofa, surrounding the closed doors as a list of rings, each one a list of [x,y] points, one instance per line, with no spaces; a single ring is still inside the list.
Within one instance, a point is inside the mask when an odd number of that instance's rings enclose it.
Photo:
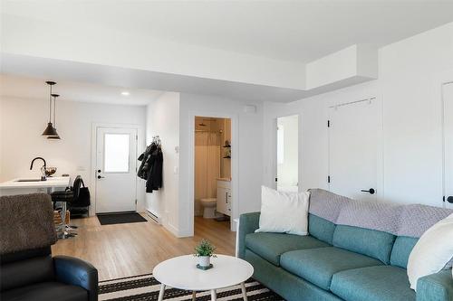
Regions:
[[[379,80],[290,104],[266,103],[264,183],[275,184],[272,144],[275,143],[276,117],[301,115],[299,177],[302,189],[326,189],[327,108],[377,97],[383,128],[379,141],[380,199],[441,206],[441,102],[436,80],[439,73],[453,69],[452,53],[453,23],[381,48]]]

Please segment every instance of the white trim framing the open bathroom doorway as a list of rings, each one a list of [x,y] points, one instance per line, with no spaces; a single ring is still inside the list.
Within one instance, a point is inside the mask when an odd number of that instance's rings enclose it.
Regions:
[[[231,202],[231,230],[236,231],[236,225],[233,220],[239,217],[239,206],[238,206],[238,189],[239,189],[239,131],[238,131],[238,116],[237,114],[218,113],[210,111],[189,111],[188,112],[188,233],[190,236],[194,235],[194,202],[195,202],[195,190],[194,190],[194,173],[195,173],[195,117],[212,117],[212,118],[229,118],[231,119],[231,191],[233,201]]]

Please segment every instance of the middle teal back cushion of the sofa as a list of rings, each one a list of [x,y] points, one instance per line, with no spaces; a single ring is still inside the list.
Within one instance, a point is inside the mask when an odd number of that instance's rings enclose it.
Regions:
[[[333,246],[390,263],[390,253],[395,236],[378,230],[337,225],[333,232]]]

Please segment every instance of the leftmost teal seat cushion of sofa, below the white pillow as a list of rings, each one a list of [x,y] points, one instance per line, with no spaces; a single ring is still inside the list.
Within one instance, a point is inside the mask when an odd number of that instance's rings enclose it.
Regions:
[[[284,233],[251,233],[246,235],[246,248],[251,249],[275,266],[280,266],[280,255],[294,249],[329,247],[312,236]]]

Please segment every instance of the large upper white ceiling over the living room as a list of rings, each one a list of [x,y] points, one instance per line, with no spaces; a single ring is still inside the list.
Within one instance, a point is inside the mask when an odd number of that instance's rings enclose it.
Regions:
[[[302,62],[355,43],[382,46],[453,21],[448,0],[2,0],[2,5],[5,14]]]

